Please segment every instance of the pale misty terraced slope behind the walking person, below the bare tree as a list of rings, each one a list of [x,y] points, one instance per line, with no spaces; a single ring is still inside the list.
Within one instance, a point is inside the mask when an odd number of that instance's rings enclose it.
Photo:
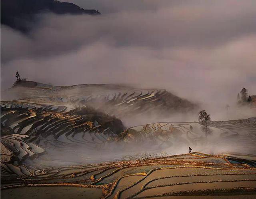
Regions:
[[[199,122],[156,122],[138,125],[126,129],[118,136],[107,141],[109,145],[118,144],[117,149],[129,148],[172,148],[179,150],[181,147],[194,146],[207,153],[222,153],[222,150],[232,152],[256,153],[252,150],[256,139],[256,117],[229,121],[211,121],[208,123],[211,133],[203,132]],[[204,136],[205,134],[205,136]],[[208,138],[210,137],[210,141]],[[240,143],[233,147],[233,143]],[[218,147],[212,147],[218,143]],[[109,146],[106,145],[106,148]],[[130,147],[131,148],[131,147]],[[193,147],[192,147],[193,148]],[[199,148],[197,148],[199,149]],[[213,151],[214,150],[214,151]],[[139,151],[139,149],[138,149]]]

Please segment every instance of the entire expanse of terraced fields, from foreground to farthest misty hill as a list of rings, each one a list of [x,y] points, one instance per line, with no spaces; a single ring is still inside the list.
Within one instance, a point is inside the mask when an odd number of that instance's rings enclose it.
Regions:
[[[161,89],[23,81],[1,100],[1,197],[254,198],[256,117],[210,121],[212,135],[124,124],[197,108]]]

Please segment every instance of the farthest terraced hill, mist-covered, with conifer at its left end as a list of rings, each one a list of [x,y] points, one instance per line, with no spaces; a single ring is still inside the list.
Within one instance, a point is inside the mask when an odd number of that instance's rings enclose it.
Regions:
[[[134,115],[168,116],[175,112],[187,112],[194,103],[167,92],[164,89],[140,89],[117,84],[79,84],[52,86],[22,81],[5,92],[1,100],[45,105],[89,106],[116,117]],[[17,100],[18,99],[18,100]]]

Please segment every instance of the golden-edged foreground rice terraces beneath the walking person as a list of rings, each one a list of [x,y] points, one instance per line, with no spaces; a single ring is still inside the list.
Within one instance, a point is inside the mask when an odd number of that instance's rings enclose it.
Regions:
[[[190,159],[184,164],[186,157]],[[26,198],[68,198],[74,192],[78,198],[145,198],[195,193],[225,198],[233,193],[254,194],[256,168],[248,164],[232,164],[222,156],[190,153],[138,161],[36,169],[28,175],[4,179],[1,189],[1,195],[6,198],[18,198],[20,194]],[[67,195],[63,195],[65,191]]]

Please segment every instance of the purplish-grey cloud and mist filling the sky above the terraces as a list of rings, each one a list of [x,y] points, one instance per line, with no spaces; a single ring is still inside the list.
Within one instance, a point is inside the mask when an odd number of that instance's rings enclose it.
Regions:
[[[255,0],[66,0],[102,15],[45,14],[28,35],[1,26],[1,90],[125,83],[199,101],[256,94]],[[226,103],[226,102],[225,102]]]

